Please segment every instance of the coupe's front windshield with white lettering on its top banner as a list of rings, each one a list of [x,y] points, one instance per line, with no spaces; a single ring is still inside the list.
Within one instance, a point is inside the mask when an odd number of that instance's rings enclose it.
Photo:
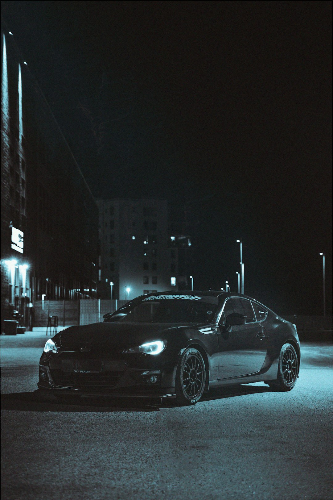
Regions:
[[[153,295],[131,302],[107,316],[104,322],[202,323],[211,322],[218,307],[217,297],[195,295]]]

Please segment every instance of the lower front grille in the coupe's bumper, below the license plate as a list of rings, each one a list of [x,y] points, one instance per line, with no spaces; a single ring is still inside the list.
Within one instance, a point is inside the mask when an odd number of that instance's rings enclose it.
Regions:
[[[84,388],[89,385],[98,387],[113,387],[119,381],[122,371],[101,373],[73,373],[71,371],[50,370],[56,385]]]

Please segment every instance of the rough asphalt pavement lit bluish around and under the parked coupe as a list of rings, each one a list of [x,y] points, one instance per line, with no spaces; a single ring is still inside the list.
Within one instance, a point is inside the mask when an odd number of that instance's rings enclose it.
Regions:
[[[330,499],[332,344],[302,343],[290,392],[194,406],[36,393],[42,332],[1,335],[1,494],[11,499]]]

